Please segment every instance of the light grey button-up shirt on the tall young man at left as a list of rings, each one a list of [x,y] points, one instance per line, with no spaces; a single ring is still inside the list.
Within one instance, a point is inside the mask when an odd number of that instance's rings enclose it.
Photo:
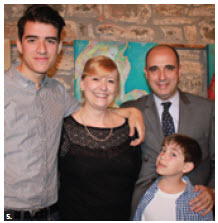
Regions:
[[[79,102],[55,79],[35,84],[15,66],[5,73],[4,204],[33,210],[57,202],[57,151],[63,118]]]

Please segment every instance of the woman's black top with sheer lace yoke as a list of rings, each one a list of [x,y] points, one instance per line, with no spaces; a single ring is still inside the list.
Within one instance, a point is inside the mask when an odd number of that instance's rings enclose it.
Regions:
[[[99,139],[109,128],[88,127]],[[72,116],[64,119],[59,151],[61,220],[129,220],[141,149],[130,147],[127,120],[104,142]]]

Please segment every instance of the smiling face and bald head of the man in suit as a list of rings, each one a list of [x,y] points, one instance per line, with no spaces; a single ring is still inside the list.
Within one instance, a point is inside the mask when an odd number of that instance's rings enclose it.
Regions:
[[[146,78],[152,91],[162,100],[175,95],[181,77],[174,51],[166,46],[153,49],[147,58]]]

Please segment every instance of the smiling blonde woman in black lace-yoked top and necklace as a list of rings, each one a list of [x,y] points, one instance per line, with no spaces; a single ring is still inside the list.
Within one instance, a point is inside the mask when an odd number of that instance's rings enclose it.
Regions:
[[[141,150],[127,119],[109,108],[119,89],[116,63],[89,59],[80,83],[84,104],[64,120],[60,147],[61,220],[129,220]]]

